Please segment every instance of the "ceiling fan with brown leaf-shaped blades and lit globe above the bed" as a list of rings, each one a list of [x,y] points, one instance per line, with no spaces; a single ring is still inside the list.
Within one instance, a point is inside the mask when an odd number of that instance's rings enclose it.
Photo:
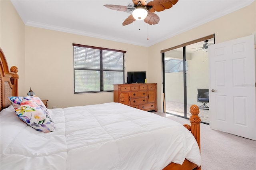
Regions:
[[[135,20],[144,20],[147,24],[158,24],[160,18],[153,12],[160,12],[169,8],[172,8],[178,0],[153,0],[146,2],[146,0],[132,0],[134,6],[122,6],[122,5],[104,5],[107,8],[117,11],[130,11],[132,14],[126,18],[123,22],[123,26],[131,24]]]

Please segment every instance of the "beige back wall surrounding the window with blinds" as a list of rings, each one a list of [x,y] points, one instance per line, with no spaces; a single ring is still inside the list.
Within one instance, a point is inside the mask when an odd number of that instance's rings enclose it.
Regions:
[[[65,32],[26,26],[26,83],[48,107],[113,102],[113,92],[74,95],[72,43],[120,49],[126,52],[127,71],[147,71],[147,48]],[[31,78],[30,78],[31,77]],[[150,80],[148,79],[148,82]]]

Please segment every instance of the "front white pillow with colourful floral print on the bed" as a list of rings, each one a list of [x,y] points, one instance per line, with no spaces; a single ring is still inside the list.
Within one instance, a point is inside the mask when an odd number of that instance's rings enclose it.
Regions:
[[[55,130],[54,122],[48,110],[36,96],[24,97],[20,107],[15,109],[15,112],[22,121],[38,131],[48,133]]]

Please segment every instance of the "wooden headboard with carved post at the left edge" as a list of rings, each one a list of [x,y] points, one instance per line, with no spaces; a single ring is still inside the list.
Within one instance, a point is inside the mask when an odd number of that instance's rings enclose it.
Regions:
[[[0,111],[11,105],[8,97],[18,96],[18,68],[12,66],[10,71],[2,49],[0,48]]]

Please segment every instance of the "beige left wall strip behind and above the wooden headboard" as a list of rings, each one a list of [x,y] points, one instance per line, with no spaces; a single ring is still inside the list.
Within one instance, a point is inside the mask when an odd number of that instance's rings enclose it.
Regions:
[[[0,47],[9,70],[18,67],[19,94],[25,90],[25,25],[9,0],[0,0]]]

